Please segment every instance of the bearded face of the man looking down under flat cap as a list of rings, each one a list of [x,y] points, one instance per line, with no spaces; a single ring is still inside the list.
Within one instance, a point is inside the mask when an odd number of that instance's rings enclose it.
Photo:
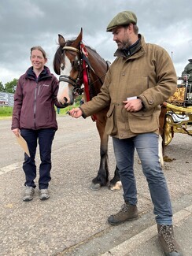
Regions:
[[[113,41],[117,43],[118,49],[122,50],[131,46],[130,25],[113,29]]]

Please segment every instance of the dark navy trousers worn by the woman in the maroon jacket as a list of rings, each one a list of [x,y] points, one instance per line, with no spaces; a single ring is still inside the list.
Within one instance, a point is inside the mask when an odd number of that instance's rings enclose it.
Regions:
[[[55,130],[52,128],[31,130],[21,129],[20,135],[24,137],[28,143],[28,154],[24,154],[23,169],[25,173],[26,181],[25,186],[36,187],[36,165],[35,165],[35,154],[37,143],[39,143],[39,153],[41,164],[39,165],[39,189],[45,189],[49,186],[51,180],[50,169],[51,169],[51,146],[54,140]]]

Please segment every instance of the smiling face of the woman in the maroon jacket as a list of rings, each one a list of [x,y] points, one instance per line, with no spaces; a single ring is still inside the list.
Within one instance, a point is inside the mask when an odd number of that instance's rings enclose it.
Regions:
[[[34,69],[39,71],[44,69],[47,59],[43,57],[40,50],[32,50],[30,59]]]

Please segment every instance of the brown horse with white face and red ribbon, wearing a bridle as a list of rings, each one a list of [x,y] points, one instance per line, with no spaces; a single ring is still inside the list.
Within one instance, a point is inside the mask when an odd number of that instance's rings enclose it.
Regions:
[[[58,48],[54,54],[54,72],[59,75],[57,100],[63,106],[73,104],[77,95],[83,94],[85,102],[98,95],[109,69],[109,61],[105,61],[90,46],[82,42],[83,29],[74,40],[65,41],[58,35]],[[95,121],[100,137],[100,164],[98,174],[92,180],[90,189],[99,190],[109,186],[111,190],[121,187],[120,176],[116,166],[112,180],[109,180],[108,143],[109,135],[105,133],[106,113],[108,108],[91,116]]]

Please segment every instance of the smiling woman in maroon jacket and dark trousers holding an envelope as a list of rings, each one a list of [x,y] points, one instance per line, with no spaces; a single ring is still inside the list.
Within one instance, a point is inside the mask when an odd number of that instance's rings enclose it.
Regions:
[[[28,154],[24,154],[23,169],[26,190],[24,201],[31,201],[35,193],[35,153],[37,143],[41,164],[39,165],[39,198],[50,198],[48,186],[51,180],[51,147],[57,130],[54,105],[57,102],[58,81],[46,67],[46,52],[41,46],[31,48],[31,67],[20,76],[14,95],[12,131],[22,135],[28,143]]]

